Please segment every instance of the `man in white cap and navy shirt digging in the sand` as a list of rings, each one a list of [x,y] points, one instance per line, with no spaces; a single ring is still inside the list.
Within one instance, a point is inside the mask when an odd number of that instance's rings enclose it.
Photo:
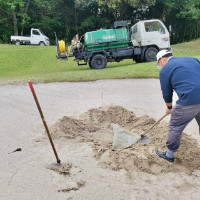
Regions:
[[[157,54],[157,67],[160,71],[160,84],[166,103],[166,114],[171,114],[168,128],[167,151],[155,153],[174,162],[184,128],[194,118],[200,127],[200,62],[192,57],[173,57],[172,52],[162,50]],[[172,108],[173,91],[179,97]],[[200,133],[200,128],[199,128]]]

